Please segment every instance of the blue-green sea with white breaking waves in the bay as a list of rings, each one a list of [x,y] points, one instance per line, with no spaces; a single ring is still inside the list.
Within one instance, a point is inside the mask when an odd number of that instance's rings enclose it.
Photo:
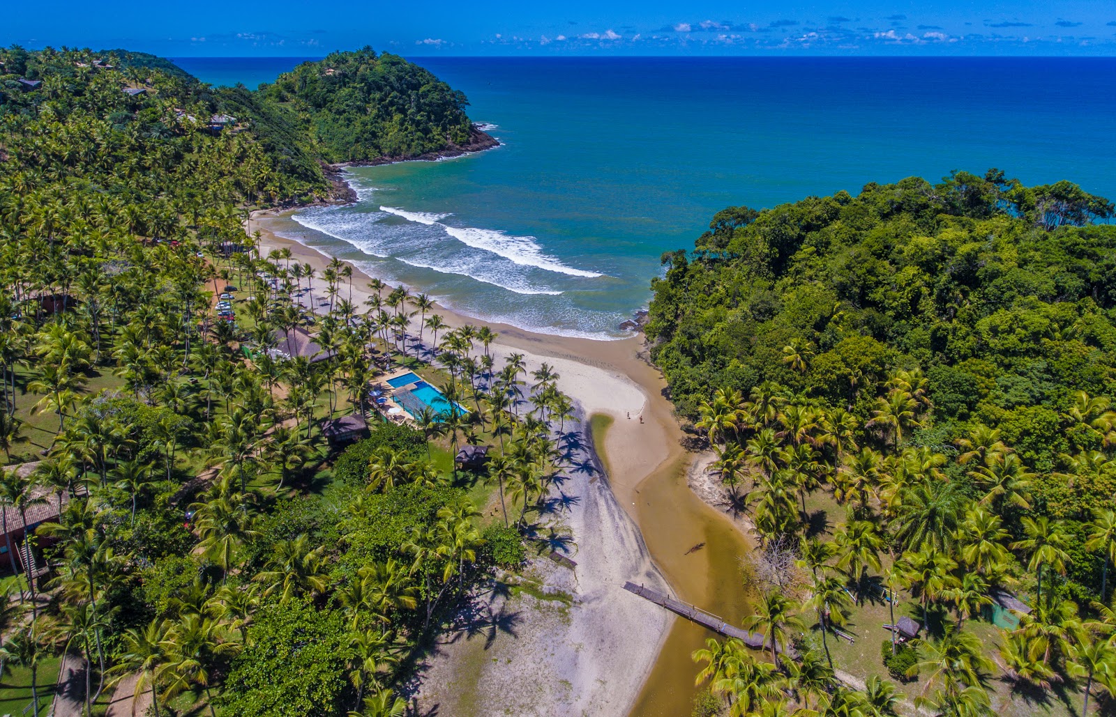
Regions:
[[[299,60],[180,60],[254,86]],[[1116,197],[1116,58],[420,58],[503,146],[281,233],[478,318],[616,336],[713,213],[999,167]],[[269,74],[270,72],[270,74]]]

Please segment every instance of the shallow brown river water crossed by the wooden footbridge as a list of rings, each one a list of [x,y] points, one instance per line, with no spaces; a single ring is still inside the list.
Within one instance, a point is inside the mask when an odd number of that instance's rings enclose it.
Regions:
[[[695,456],[679,452],[636,486],[636,523],[652,559],[677,597],[739,626],[750,614],[740,560],[751,545],[743,534],[686,484]],[[699,550],[692,548],[704,543]],[[687,552],[690,551],[690,552]],[[691,714],[700,667],[691,653],[719,637],[677,618],[631,711],[632,717]]]

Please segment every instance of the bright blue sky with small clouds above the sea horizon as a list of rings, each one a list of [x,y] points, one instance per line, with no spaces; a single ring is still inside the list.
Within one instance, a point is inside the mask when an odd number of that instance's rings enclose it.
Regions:
[[[177,6],[177,7],[175,7]],[[429,55],[1116,55],[1113,0],[725,2],[46,0],[0,42],[171,57]]]

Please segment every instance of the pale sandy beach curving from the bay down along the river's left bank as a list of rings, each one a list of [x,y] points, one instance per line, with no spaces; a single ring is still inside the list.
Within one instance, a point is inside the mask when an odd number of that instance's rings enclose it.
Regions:
[[[277,236],[268,216],[253,215],[250,226],[260,232],[262,254],[289,249],[292,261],[325,268],[328,258]],[[357,307],[369,295],[368,279],[354,267]],[[343,295],[348,295],[347,287]],[[451,327],[485,323],[444,307],[436,313]],[[670,613],[623,590],[632,580],[670,591],[641,534],[635,500],[637,486],[682,453],[677,423],[662,397],[662,377],[639,357],[643,345],[635,336],[594,341],[488,326],[500,335],[491,347],[498,366],[511,352],[525,355],[528,370],[546,361],[560,375],[558,387],[577,404],[583,419],[613,417],[600,447],[613,472],[600,479],[589,471],[571,471],[559,488],[571,498],[558,520],[576,545],[576,570],[567,574],[568,569],[552,563],[530,569],[543,590],[569,594],[571,604],[556,612],[554,601],[530,597],[513,605],[502,598],[490,601],[488,609],[496,613],[516,611],[514,630],[449,636],[424,671],[419,703],[463,717],[627,715],[674,623]],[[469,698],[477,689],[482,689],[482,700]]]

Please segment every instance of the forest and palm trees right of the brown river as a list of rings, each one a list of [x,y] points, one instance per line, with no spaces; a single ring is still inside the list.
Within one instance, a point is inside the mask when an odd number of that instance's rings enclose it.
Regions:
[[[733,714],[896,709],[838,669],[917,679],[950,717],[1049,709],[1052,686],[1062,709],[1112,698],[1116,226],[1094,222],[1113,213],[959,172],[732,207],[664,255],[652,356],[760,540],[745,624],[799,647],[694,655]],[[982,618],[1012,594],[1017,626]],[[866,636],[911,617],[922,639],[892,631],[876,662]]]

